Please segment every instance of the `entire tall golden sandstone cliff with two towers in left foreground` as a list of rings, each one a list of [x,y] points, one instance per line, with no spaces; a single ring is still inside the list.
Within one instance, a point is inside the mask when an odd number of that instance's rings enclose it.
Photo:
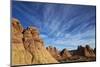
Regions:
[[[36,28],[23,29],[17,19],[12,19],[11,33],[12,65],[58,63],[44,47]]]

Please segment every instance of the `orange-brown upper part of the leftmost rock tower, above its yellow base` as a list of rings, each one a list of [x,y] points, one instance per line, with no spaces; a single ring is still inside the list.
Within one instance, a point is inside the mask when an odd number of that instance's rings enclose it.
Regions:
[[[19,20],[12,19],[12,42],[13,43],[22,43],[23,38],[23,27],[19,23]]]

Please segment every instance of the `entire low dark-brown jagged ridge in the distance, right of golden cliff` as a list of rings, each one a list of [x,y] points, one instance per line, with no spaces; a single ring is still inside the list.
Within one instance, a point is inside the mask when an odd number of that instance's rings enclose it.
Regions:
[[[94,61],[96,59],[95,49],[89,45],[78,46],[76,50],[68,51],[66,48],[58,51],[56,47],[46,47],[50,54],[59,62],[75,62],[75,61]]]

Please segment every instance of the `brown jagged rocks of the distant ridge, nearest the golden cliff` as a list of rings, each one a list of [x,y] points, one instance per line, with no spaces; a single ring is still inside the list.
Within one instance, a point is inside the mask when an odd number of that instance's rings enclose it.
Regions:
[[[66,61],[71,58],[71,54],[69,51],[65,48],[61,51],[58,51],[56,47],[49,46],[46,48],[50,54],[58,61]]]

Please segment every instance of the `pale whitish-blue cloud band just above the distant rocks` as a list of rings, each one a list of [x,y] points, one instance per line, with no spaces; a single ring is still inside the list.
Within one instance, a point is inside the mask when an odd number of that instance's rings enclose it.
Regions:
[[[58,37],[58,38],[50,38],[46,35],[42,35],[41,37],[44,39],[45,44],[47,44],[47,46],[56,45],[57,48],[59,49],[62,48],[76,49],[77,46],[79,45],[85,46],[87,44],[89,44],[92,48],[95,47],[94,30],[91,31],[89,30],[85,33],[76,34],[76,35],[66,34],[64,37]]]

